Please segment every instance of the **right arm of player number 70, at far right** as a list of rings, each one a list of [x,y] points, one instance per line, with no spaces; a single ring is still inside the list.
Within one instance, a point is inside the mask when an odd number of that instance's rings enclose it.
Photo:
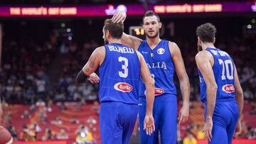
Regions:
[[[238,77],[238,72],[236,70],[236,67],[235,67],[235,99],[238,102],[238,107],[239,107],[239,119],[238,119],[237,128],[235,130],[235,136],[236,136],[241,133],[242,109],[244,104],[244,96],[242,92],[242,87],[239,82],[239,77]]]

